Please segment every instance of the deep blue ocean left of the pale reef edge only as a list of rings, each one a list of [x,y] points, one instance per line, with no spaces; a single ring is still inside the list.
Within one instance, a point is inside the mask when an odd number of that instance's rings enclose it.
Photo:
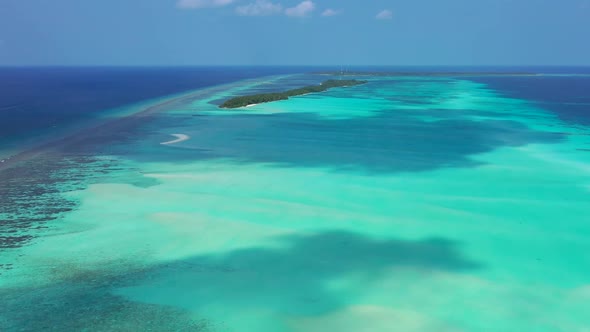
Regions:
[[[0,68],[2,143],[134,102],[301,67]],[[59,130],[59,128],[58,128]]]

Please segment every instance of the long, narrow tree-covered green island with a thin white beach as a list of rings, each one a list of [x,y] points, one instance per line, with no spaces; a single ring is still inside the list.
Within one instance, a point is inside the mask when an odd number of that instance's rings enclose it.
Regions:
[[[249,96],[240,96],[226,100],[223,104],[219,107],[221,108],[238,108],[244,106],[250,106],[255,104],[261,103],[268,103],[271,101],[277,100],[285,100],[289,99],[289,97],[294,96],[301,96],[308,93],[315,93],[315,92],[322,92],[326,91],[331,88],[337,87],[347,87],[347,86],[354,86],[365,84],[367,81],[361,80],[327,80],[319,85],[310,85],[303,88],[287,90],[283,92],[273,92],[273,93],[261,93],[256,95],[249,95]]]

